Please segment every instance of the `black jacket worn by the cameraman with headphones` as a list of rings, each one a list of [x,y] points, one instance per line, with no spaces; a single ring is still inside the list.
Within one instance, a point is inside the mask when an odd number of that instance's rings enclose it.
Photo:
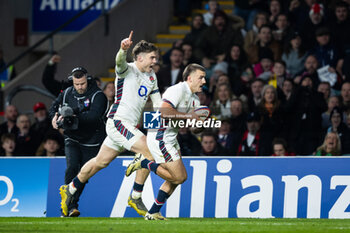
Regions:
[[[106,136],[104,119],[108,101],[96,82],[90,81],[84,94],[77,93],[73,86],[60,93],[50,108],[51,119],[63,104],[74,110],[79,121],[77,130],[64,131],[66,140],[69,138],[83,145],[101,144]]]

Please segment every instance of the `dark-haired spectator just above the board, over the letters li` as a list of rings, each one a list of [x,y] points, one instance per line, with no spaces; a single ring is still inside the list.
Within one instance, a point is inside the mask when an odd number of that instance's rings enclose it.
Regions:
[[[217,143],[217,136],[211,131],[204,131],[201,136],[200,156],[226,156],[227,151]]]

